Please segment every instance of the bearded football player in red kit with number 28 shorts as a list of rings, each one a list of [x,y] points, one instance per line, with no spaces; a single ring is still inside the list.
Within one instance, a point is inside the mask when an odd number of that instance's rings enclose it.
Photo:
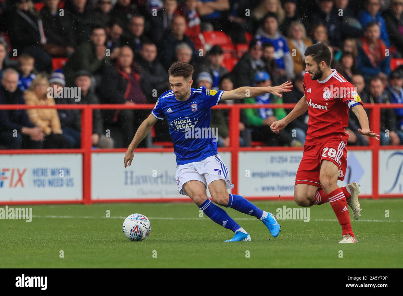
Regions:
[[[349,205],[358,219],[359,185],[356,182],[345,187],[337,186],[343,180],[347,168],[347,139],[349,109],[357,116],[361,135],[379,135],[369,128],[367,114],[353,85],[336,70],[330,69],[331,54],[325,43],[317,43],[305,50],[305,95],[283,119],[270,126],[278,133],[289,122],[308,110],[308,131],[303,157],[295,177],[294,199],[303,207],[329,202],[343,230],[341,244],[355,243],[351,228]]]

